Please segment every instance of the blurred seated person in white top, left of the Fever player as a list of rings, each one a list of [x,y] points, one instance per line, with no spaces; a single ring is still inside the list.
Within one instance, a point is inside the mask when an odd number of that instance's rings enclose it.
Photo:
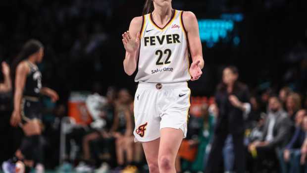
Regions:
[[[108,133],[110,125],[113,121],[113,100],[115,90],[109,87],[107,90],[107,96],[103,97],[98,93],[101,93],[100,85],[94,86],[94,94],[89,95],[86,99],[86,112],[91,115],[93,122],[89,125],[81,124],[72,126],[69,133],[66,134],[66,153],[65,163],[62,165],[63,168],[70,166],[69,162],[71,159],[68,157],[70,152],[70,142],[73,140],[75,144],[80,147],[82,152],[81,162],[76,167],[77,172],[93,171],[96,166],[97,155],[93,152],[91,142],[98,138],[110,138],[111,135]],[[103,145],[104,146],[104,145]],[[103,147],[102,146],[102,147]],[[95,153],[95,154],[93,154]],[[60,169],[62,169],[62,166]]]

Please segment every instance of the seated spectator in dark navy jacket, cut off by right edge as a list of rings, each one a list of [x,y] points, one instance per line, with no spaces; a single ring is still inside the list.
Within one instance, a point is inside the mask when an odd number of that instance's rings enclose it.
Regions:
[[[282,173],[301,173],[300,159],[301,147],[306,138],[307,131],[307,112],[300,110],[296,114],[296,130],[295,133],[286,146],[285,150],[279,154],[280,166]]]

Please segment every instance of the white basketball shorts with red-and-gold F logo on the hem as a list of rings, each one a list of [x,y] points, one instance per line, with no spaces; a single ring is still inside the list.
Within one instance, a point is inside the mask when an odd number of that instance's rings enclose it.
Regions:
[[[135,93],[135,142],[149,142],[160,137],[160,129],[175,128],[187,135],[191,90],[187,82],[140,82]]]

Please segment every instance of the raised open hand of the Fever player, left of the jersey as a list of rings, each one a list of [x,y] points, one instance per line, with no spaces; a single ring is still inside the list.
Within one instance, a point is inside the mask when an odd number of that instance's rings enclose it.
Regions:
[[[129,31],[122,34],[122,41],[126,51],[130,54],[136,53],[140,48],[140,33],[138,32],[136,38],[132,38]]]

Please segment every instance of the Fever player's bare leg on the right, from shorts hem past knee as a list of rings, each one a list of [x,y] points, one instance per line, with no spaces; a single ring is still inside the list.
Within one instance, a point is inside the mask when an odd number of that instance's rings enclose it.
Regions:
[[[176,173],[175,160],[182,142],[183,131],[175,128],[160,130],[158,165],[160,173]]]

